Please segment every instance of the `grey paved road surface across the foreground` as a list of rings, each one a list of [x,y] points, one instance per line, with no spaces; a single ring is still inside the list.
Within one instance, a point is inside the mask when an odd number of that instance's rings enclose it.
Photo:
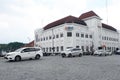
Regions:
[[[49,56],[20,62],[0,58],[0,80],[120,80],[120,55]]]

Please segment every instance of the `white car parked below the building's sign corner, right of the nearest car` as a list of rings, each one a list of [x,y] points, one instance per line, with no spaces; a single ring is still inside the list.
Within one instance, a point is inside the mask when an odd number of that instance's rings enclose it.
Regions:
[[[73,57],[73,56],[81,57],[82,55],[83,55],[83,52],[79,48],[69,48],[61,53],[62,57]]]

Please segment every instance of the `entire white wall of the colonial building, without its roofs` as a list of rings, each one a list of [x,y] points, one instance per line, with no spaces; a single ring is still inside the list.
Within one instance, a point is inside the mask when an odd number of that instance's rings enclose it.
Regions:
[[[36,45],[41,46],[42,48],[52,48],[55,47],[55,52],[57,52],[56,48],[59,47],[59,52],[61,52],[60,47],[63,46],[64,50],[67,47],[76,47],[80,48],[84,47],[84,51],[86,51],[86,47],[94,46],[94,49],[98,49],[98,47],[102,45],[106,45],[106,47],[117,48],[119,47],[119,34],[118,32],[102,28],[101,19],[98,17],[91,17],[84,20],[87,23],[87,26],[76,24],[76,23],[65,23],[47,30],[38,29],[35,31],[35,35],[38,35],[39,40]],[[73,27],[72,30],[66,30],[65,27]],[[72,32],[72,37],[67,37],[67,32]],[[60,34],[63,34],[63,37],[60,37]],[[76,33],[79,33],[79,37],[76,37]],[[59,38],[49,39],[53,35],[59,35]],[[81,37],[81,34],[84,34],[84,38]],[[85,35],[92,35],[92,38],[86,38]],[[103,37],[109,37],[118,39],[118,41],[110,41],[103,40]],[[48,40],[46,40],[48,37]],[[44,41],[41,41],[41,38],[45,38]],[[49,52],[49,50],[48,50]]]

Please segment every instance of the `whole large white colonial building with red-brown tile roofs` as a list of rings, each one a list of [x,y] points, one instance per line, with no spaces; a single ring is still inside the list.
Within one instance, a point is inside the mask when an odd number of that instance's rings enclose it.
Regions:
[[[67,16],[35,30],[35,46],[46,53],[60,53],[70,47],[84,52],[99,48],[114,51],[119,47],[119,33],[101,20],[93,11],[78,18]]]

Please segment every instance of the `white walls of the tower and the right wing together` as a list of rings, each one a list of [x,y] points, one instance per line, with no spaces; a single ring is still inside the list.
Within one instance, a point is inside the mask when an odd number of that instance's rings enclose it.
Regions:
[[[119,33],[103,28],[100,18],[93,16],[84,19],[84,21],[87,23],[89,30],[93,32],[94,49],[105,46],[105,50],[114,51],[119,47]]]

